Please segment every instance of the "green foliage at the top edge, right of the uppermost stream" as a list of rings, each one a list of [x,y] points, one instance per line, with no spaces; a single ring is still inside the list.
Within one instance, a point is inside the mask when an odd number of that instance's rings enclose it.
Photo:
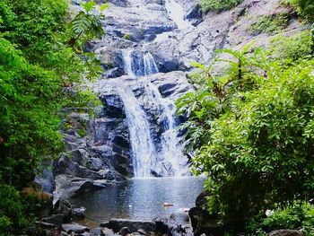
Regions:
[[[203,12],[208,13],[210,11],[221,12],[229,10],[237,4],[241,4],[243,0],[202,0],[201,7]]]

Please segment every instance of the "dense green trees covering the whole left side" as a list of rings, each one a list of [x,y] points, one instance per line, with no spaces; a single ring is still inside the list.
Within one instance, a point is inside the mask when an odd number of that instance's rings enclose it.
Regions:
[[[95,100],[83,83],[100,73],[87,39],[103,34],[95,3],[72,20],[66,0],[0,2],[0,231],[17,233],[31,213],[21,188],[44,159],[63,150],[59,133],[68,107]],[[108,6],[108,5],[105,5]]]

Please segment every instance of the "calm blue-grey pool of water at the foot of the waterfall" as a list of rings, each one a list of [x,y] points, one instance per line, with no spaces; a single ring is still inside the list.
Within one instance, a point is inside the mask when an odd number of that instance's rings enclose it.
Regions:
[[[195,177],[130,179],[70,202],[74,207],[84,206],[87,218],[95,222],[111,218],[153,220],[192,207],[203,183],[204,179]],[[173,206],[164,207],[165,202]]]

